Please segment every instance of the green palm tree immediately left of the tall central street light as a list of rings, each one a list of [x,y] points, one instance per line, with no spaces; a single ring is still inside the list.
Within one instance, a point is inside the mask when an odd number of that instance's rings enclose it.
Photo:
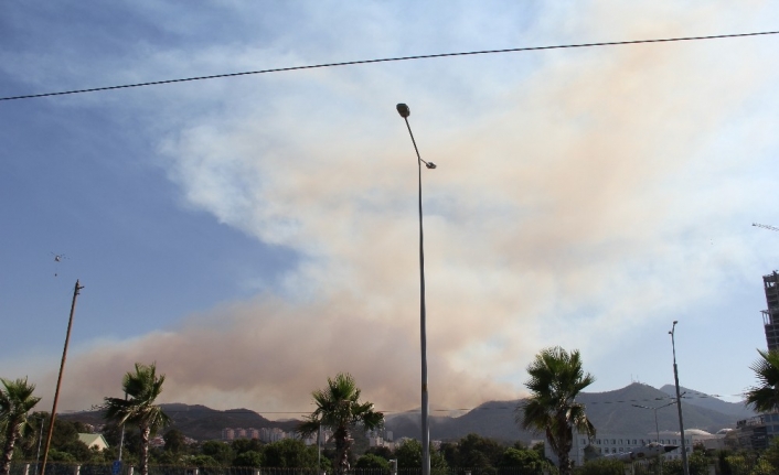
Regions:
[[[320,428],[333,430],[338,454],[337,469],[349,469],[349,449],[352,444],[350,430],[361,425],[367,430],[384,424],[384,414],[373,410],[372,402],[360,402],[360,388],[350,374],[339,373],[334,379],[328,378],[328,387],[311,392],[314,410],[297,431],[303,435],[318,433]]]

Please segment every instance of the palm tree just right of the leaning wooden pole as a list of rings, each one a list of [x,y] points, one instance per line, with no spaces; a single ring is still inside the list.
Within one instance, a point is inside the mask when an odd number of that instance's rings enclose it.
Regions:
[[[162,392],[164,380],[164,375],[157,376],[157,366],[153,363],[149,366],[136,363],[135,373],[126,374],[121,381],[125,399],[104,399],[103,410],[107,420],[122,427],[126,423],[134,424],[140,430],[141,475],[149,474],[150,436],[171,422],[170,417],[162,411],[162,408],[154,406],[154,400]]]

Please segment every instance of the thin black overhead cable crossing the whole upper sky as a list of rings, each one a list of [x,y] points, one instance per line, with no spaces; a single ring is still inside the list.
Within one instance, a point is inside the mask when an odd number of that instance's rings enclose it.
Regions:
[[[243,73],[225,73],[225,74],[214,74],[210,76],[196,76],[196,77],[185,77],[179,79],[163,79],[163,80],[152,80],[148,83],[135,83],[135,84],[124,84],[118,86],[104,86],[104,87],[92,87],[87,89],[73,89],[63,90],[58,93],[42,93],[42,94],[29,94],[24,96],[10,96],[0,97],[0,100],[18,100],[18,99],[34,99],[39,97],[52,97],[52,96],[65,96],[70,94],[85,94],[85,93],[98,93],[102,90],[115,90],[115,89],[129,89],[132,87],[145,87],[145,86],[160,86],[163,84],[175,84],[175,83],[189,83],[194,80],[206,80],[206,79],[220,79],[225,77],[236,77],[236,76],[249,76],[255,74],[269,74],[269,73],[285,73],[291,71],[302,71],[302,69],[317,69],[324,67],[337,67],[337,66],[354,66],[361,64],[374,64],[374,63],[392,63],[399,61],[412,61],[412,60],[433,60],[438,57],[452,57],[452,56],[474,56],[479,54],[499,54],[499,53],[521,53],[527,51],[545,51],[545,50],[563,50],[573,47],[596,47],[596,46],[620,46],[629,44],[644,44],[644,43],[670,43],[680,41],[701,41],[701,40],[722,40],[732,37],[745,37],[745,36],[764,36],[779,34],[779,31],[762,31],[754,33],[733,33],[733,34],[717,34],[709,36],[681,36],[681,37],[665,37],[665,39],[654,39],[654,40],[631,40],[631,41],[611,41],[611,42],[600,42],[600,43],[579,43],[579,44],[562,44],[562,45],[551,45],[551,46],[527,46],[527,47],[511,47],[504,50],[482,50],[482,51],[469,51],[469,52],[458,52],[458,53],[438,53],[438,54],[423,54],[417,56],[398,56],[398,57],[384,57],[375,60],[360,60],[360,61],[346,61],[341,63],[322,63],[306,66],[289,66],[289,67],[276,67],[270,69],[259,69],[259,71],[247,71]]]

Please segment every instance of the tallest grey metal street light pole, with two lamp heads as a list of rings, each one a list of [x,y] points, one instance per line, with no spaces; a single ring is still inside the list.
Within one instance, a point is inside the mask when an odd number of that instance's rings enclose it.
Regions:
[[[436,164],[426,162],[419,156],[412,126],[408,123],[408,116],[412,111],[405,104],[396,106],[397,112],[406,121],[408,134],[412,137],[414,150],[417,153],[417,165],[419,169],[419,341],[421,346],[421,475],[430,475],[430,429],[429,429],[429,403],[427,397],[427,332],[426,332],[426,310],[425,310],[425,251],[423,247],[423,227],[421,227],[421,164],[433,170]]]

